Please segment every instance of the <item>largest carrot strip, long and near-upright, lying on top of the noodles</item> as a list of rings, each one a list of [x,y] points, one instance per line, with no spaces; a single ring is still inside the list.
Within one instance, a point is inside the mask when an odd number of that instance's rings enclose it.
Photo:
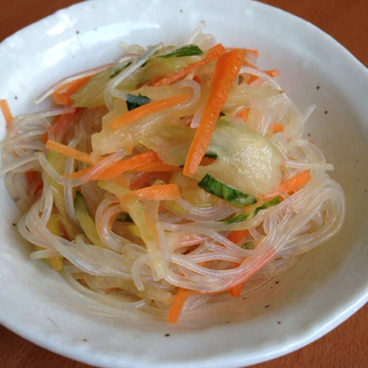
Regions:
[[[217,60],[210,94],[184,165],[183,174],[192,176],[198,169],[211,141],[218,116],[228,98],[245,57],[244,50],[229,51]]]

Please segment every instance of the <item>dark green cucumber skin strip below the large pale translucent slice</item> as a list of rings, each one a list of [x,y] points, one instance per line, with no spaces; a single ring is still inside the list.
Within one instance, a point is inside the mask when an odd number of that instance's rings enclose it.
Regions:
[[[254,205],[257,202],[256,198],[252,195],[235,189],[224,182],[215,179],[210,174],[206,174],[205,177],[199,181],[198,187],[215,195],[216,197],[226,200],[235,207],[243,208],[245,206]]]

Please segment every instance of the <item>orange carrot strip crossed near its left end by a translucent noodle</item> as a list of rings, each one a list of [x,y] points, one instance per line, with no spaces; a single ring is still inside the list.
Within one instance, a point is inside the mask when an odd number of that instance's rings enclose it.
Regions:
[[[106,168],[104,171],[102,171],[99,174],[96,174],[95,176],[92,176],[90,180],[108,180],[115,178],[119,176],[120,174],[126,172],[126,171],[132,171],[138,167],[140,167],[143,164],[147,164],[149,162],[155,162],[159,161],[162,162],[159,157],[157,156],[157,153],[154,151],[144,152],[140,153],[138,155],[135,155],[131,158],[123,159],[117,162],[114,162],[111,164],[108,168]],[[65,175],[67,179],[76,179],[81,177],[84,174],[87,174],[90,170],[92,170],[93,167],[83,169],[80,171],[77,171],[72,174]]]

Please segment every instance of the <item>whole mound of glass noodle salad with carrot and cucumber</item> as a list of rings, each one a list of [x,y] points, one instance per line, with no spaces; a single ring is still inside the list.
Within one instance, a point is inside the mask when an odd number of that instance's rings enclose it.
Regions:
[[[107,314],[180,320],[247,296],[340,229],[344,194],[304,114],[259,51],[202,32],[183,46],[123,44],[12,117],[1,107],[17,229]]]

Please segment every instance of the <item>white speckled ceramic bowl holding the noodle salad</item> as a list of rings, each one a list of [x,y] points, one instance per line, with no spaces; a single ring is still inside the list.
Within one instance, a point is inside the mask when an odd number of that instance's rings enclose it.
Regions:
[[[331,175],[345,190],[343,230],[278,284],[222,312],[176,325],[141,314],[102,317],[85,311],[85,299],[58,273],[28,259],[29,248],[12,226],[19,213],[2,179],[0,321],[15,333],[97,366],[234,367],[294,351],[367,301],[368,71],[311,24],[246,0],[84,2],[1,44],[0,97],[14,114],[32,111],[32,99],[49,85],[114,60],[119,41],[178,45],[203,19],[218,41],[259,49],[261,67],[280,69],[282,86],[302,111],[317,104],[305,133],[335,165]],[[0,132],[3,137],[3,120]]]

